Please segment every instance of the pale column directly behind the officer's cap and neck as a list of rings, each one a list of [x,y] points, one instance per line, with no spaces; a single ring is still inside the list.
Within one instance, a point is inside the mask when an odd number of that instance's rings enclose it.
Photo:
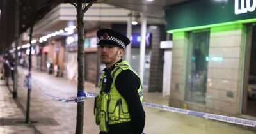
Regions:
[[[127,37],[130,39],[132,38],[132,11],[129,14],[129,19],[127,21]],[[125,54],[125,60],[127,63],[131,64],[131,48],[132,48],[132,43],[127,45],[126,49],[126,54]]]

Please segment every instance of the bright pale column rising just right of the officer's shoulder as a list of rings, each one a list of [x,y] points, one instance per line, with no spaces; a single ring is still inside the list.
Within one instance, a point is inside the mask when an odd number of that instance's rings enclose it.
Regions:
[[[140,75],[142,84],[143,84],[143,78],[144,78],[146,32],[147,32],[147,17],[145,13],[143,13],[141,17],[141,42],[140,42],[140,67],[139,67],[139,75]]]

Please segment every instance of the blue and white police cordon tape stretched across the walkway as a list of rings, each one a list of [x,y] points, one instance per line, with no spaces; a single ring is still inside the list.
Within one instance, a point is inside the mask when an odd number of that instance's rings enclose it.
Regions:
[[[32,80],[33,81],[33,80]],[[42,93],[46,94],[47,96],[51,96],[54,100],[58,100],[61,102],[83,102],[85,98],[95,98],[97,96],[97,93],[90,93],[90,92],[83,92],[83,91],[78,91],[77,97],[72,97],[72,98],[59,98],[56,96],[52,96],[51,94],[45,92],[40,86],[36,84],[35,81],[33,81],[37,89],[39,89]],[[225,115],[217,115],[217,114],[209,114],[209,113],[204,113],[204,112],[197,112],[193,110],[186,110],[182,108],[175,108],[175,107],[169,107],[166,105],[159,105],[155,103],[148,103],[148,102],[142,102],[142,104],[146,107],[152,107],[152,108],[157,108],[160,110],[166,110],[170,112],[177,112],[180,114],[186,114],[186,115],[193,115],[196,117],[204,117],[205,119],[212,119],[216,121],[223,121],[226,123],[233,123],[233,124],[239,124],[243,126],[250,126],[250,127],[256,127],[256,121],[250,120],[250,119],[242,119],[242,118],[237,118],[237,117],[228,117]]]

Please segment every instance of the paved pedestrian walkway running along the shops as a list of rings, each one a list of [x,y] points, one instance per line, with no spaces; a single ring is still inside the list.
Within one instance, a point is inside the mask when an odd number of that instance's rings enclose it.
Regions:
[[[27,69],[19,68],[18,98],[12,98],[4,80],[0,80],[0,134],[72,134],[76,130],[76,103],[63,103],[51,96],[70,98],[76,96],[77,82],[54,77],[45,72],[33,71],[31,92],[31,124],[24,123],[28,90],[23,85]],[[85,90],[97,93],[97,87],[85,82]],[[51,94],[51,96],[49,96]],[[144,101],[168,105],[168,97],[161,93],[144,91]],[[84,106],[84,133],[97,134],[99,128],[93,117],[93,98],[86,99]],[[166,112],[144,107],[146,112],[145,133],[147,134],[256,134],[246,127],[221,123],[191,115]]]

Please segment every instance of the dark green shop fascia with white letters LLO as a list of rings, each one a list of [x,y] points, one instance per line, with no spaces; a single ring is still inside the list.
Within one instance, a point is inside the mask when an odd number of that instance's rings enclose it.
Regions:
[[[256,0],[197,0],[170,6],[165,10],[166,30],[248,23],[256,19],[255,8]]]

